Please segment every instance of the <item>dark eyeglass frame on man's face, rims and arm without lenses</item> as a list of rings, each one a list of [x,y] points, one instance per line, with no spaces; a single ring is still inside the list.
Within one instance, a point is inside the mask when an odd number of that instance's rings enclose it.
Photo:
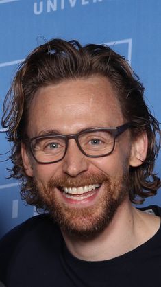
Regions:
[[[112,154],[112,152],[114,151],[114,147],[115,147],[115,142],[116,142],[116,137],[119,137],[119,135],[121,135],[122,133],[125,132],[125,130],[127,130],[127,128],[130,128],[132,126],[131,123],[127,122],[125,124],[122,124],[121,126],[116,126],[116,128],[89,128],[86,130],[83,130],[79,133],[76,134],[70,134],[70,135],[42,135],[42,136],[38,136],[38,137],[32,137],[32,138],[26,138],[23,139],[23,142],[27,145],[27,147],[29,148],[30,152],[32,153],[32,156],[34,157],[34,159],[37,161],[37,163],[40,164],[50,164],[50,163],[58,163],[59,161],[62,161],[62,159],[64,159],[65,155],[66,155],[66,151],[68,149],[68,143],[69,143],[69,139],[75,139],[77,146],[79,148],[79,150],[82,152],[82,154],[86,155],[86,157],[107,157],[108,155]],[[80,143],[79,143],[79,136],[85,133],[92,133],[92,132],[96,132],[96,131],[102,131],[102,132],[109,132],[112,134],[113,138],[114,138],[114,143],[113,143],[113,148],[110,152],[106,153],[106,154],[99,154],[99,155],[89,155],[86,154],[86,152],[84,152],[84,150],[82,149]],[[60,138],[60,139],[64,139],[65,140],[65,150],[64,150],[64,154],[61,157],[61,159],[58,159],[57,161],[49,161],[49,162],[42,162],[42,161],[38,161],[38,159],[36,159],[35,155],[34,155],[34,151],[33,151],[33,147],[32,147],[32,141],[34,139],[45,139],[45,138]]]

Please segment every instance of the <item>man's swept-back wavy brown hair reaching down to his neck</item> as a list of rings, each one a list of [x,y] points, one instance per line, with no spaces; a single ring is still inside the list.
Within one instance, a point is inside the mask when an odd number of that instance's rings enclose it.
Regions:
[[[160,187],[160,179],[153,173],[160,148],[159,123],[145,104],[143,84],[125,58],[106,45],[82,47],[77,41],[52,39],[34,49],[21,63],[3,104],[2,126],[8,129],[8,141],[13,144],[10,177],[21,179],[21,196],[30,205],[43,208],[34,188],[34,179],[25,173],[21,157],[21,141],[25,137],[32,99],[40,87],[92,75],[110,80],[123,117],[132,122],[132,137],[143,131],[147,133],[147,157],[142,165],[129,169],[132,183],[130,200],[132,203],[143,203],[144,198],[156,194]]]

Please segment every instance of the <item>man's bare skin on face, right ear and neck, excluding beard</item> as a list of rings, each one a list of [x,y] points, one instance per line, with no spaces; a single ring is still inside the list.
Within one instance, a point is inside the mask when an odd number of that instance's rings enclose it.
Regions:
[[[29,111],[27,134],[36,137],[57,130],[68,135],[78,133],[84,128],[116,127],[124,124],[121,107],[116,99],[116,93],[110,82],[101,76],[66,80],[59,84],[42,87],[34,96]],[[131,141],[129,130],[125,131],[117,141],[114,152],[108,157],[88,158],[80,152],[74,139],[70,139],[69,148],[62,161],[42,165],[36,163],[22,145],[22,157],[25,170],[33,176],[39,187],[47,187],[50,180],[68,176],[73,184],[78,179],[87,179],[90,174],[110,176],[112,198],[119,196],[119,184],[123,169],[142,164],[147,153],[147,135],[143,133],[135,141]],[[141,160],[140,160],[141,159]],[[85,183],[84,183],[85,184]],[[46,189],[47,190],[47,189]],[[54,187],[49,196],[55,196],[60,205],[79,211],[97,206],[92,216],[101,212],[101,200],[106,192],[101,185],[95,196],[85,200],[69,200],[62,196],[60,190]],[[45,196],[45,195],[43,195]],[[73,218],[72,218],[73,220]],[[90,225],[91,218],[84,220],[84,225]],[[82,218],[75,217],[75,226],[82,225]],[[62,235],[69,251],[82,260],[107,260],[135,249],[151,238],[158,230],[160,219],[138,211],[132,207],[128,196],[116,209],[112,220],[97,236],[83,239],[75,238],[62,229]]]

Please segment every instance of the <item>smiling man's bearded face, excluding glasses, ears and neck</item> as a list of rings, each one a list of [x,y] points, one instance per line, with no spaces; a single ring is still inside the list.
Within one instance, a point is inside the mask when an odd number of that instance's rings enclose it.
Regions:
[[[40,88],[29,111],[27,134],[36,137],[56,130],[68,135],[124,123],[110,82],[93,76]],[[22,154],[27,174],[34,177],[42,202],[62,230],[89,237],[106,228],[127,199],[130,146],[127,130],[107,157],[86,157],[75,139],[69,139],[66,155],[58,163],[37,163],[24,147]]]

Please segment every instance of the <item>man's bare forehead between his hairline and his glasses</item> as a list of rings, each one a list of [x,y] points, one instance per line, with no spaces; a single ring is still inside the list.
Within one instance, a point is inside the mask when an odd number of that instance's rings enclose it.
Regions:
[[[110,82],[101,76],[64,80],[38,89],[29,110],[28,133],[77,133],[97,126],[119,126],[121,107]]]

